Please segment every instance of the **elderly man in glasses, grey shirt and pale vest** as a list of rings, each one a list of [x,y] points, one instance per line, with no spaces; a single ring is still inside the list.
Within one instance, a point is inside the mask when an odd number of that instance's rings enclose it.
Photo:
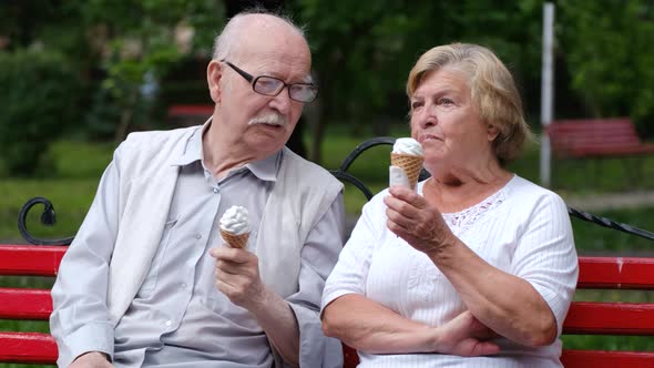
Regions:
[[[337,367],[320,330],[343,239],[343,185],[284,147],[317,94],[302,30],[266,13],[218,35],[203,126],[115,151],[52,289],[59,365]],[[249,211],[244,249],[218,219]]]

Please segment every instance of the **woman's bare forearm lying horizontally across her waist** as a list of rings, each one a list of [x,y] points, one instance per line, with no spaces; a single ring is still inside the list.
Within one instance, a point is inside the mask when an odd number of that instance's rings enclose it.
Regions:
[[[323,314],[325,335],[370,354],[435,351],[437,329],[418,323],[358,294],[331,301]]]

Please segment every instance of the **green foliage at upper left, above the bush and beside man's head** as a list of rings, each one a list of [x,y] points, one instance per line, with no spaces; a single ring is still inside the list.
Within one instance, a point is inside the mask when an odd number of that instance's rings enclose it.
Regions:
[[[57,50],[93,85],[79,131],[121,141],[131,130],[156,127],[162,78],[182,58],[210,54],[223,8],[215,0],[0,1],[0,49]]]

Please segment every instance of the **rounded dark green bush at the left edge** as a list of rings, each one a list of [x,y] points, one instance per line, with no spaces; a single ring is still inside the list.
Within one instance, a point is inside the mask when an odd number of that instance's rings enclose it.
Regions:
[[[81,80],[55,52],[0,52],[0,157],[9,175],[31,176],[50,142],[80,121]]]

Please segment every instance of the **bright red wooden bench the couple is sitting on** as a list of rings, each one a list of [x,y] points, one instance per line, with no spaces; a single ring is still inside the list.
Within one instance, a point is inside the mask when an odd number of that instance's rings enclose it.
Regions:
[[[65,246],[0,245],[0,275],[55,276]],[[654,257],[581,257],[579,288],[654,290]],[[48,289],[0,288],[1,319],[48,320]],[[564,334],[654,336],[654,303],[575,301]],[[345,367],[356,352],[344,347]],[[0,362],[54,364],[57,345],[43,333],[0,331]],[[565,367],[654,367],[654,351],[564,350]]]

